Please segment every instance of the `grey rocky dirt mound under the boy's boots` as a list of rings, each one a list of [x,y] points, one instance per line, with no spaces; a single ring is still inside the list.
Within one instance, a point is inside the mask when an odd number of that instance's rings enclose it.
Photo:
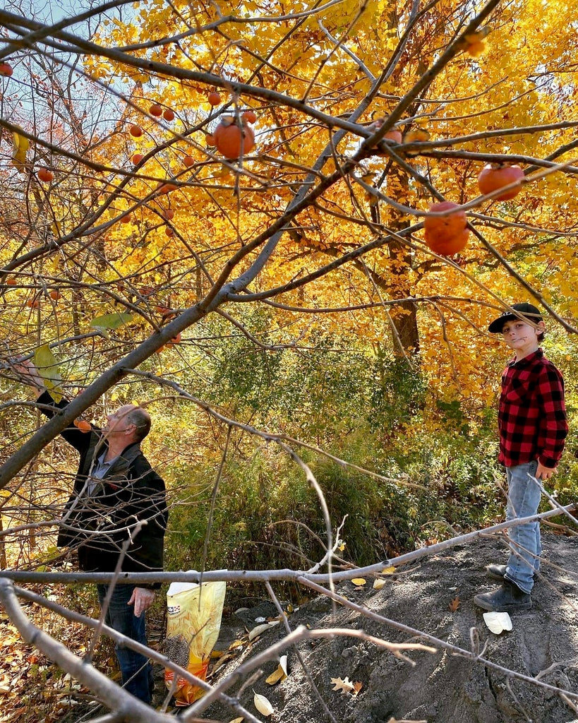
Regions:
[[[368,611],[403,623],[452,643],[462,649],[472,647],[471,629],[477,630],[480,646],[487,643],[484,656],[489,661],[543,683],[578,692],[578,537],[545,535],[542,581],[532,593],[530,612],[512,615],[513,630],[496,636],[483,622],[482,612],[473,605],[478,591],[493,589],[494,581],[485,577],[490,562],[504,562],[504,542],[476,540],[447,554],[400,568],[390,576],[383,589],[355,588],[343,583],[337,591]],[[458,597],[460,605],[452,612],[449,602]],[[254,628],[255,617],[276,615],[272,606],[238,612],[223,623],[217,648],[223,649],[233,638]],[[353,628],[396,643],[418,642],[408,633],[384,623],[369,620],[359,612],[337,607],[332,616],[327,598],[319,597],[290,615],[291,628]],[[239,664],[282,637],[282,625],[267,630],[258,641],[243,649],[241,656],[215,672],[212,683],[233,672]],[[558,693],[537,685],[509,678],[439,647],[436,653],[412,651],[408,656],[415,666],[395,658],[388,651],[367,641],[338,637],[303,641],[299,649],[311,676],[329,710],[340,723],[387,723],[391,719],[427,723],[578,723],[578,713]],[[268,721],[319,723],[327,720],[296,653],[288,652],[289,675],[277,685],[265,678],[277,668],[269,662],[262,675],[251,680],[238,693],[243,706],[259,716],[254,707],[254,692],[266,696],[275,713]],[[332,690],[331,678],[348,677],[363,687],[357,696]],[[236,688],[228,693],[235,695]],[[578,701],[574,700],[574,704]],[[214,704],[205,716],[229,721],[236,714]],[[262,716],[259,716],[262,717]]]

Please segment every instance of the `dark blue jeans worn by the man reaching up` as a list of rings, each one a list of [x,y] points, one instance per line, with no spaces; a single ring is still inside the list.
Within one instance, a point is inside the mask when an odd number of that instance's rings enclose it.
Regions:
[[[147,645],[147,629],[144,612],[140,617],[134,615],[134,607],[127,604],[131,599],[134,585],[117,585],[113,590],[111,603],[106,612],[105,623],[143,645]],[[97,585],[100,605],[105,599],[108,585]],[[150,703],[152,697],[153,679],[150,660],[130,648],[115,645],[116,658],[121,668],[122,685],[125,690],[132,693],[144,703]]]

